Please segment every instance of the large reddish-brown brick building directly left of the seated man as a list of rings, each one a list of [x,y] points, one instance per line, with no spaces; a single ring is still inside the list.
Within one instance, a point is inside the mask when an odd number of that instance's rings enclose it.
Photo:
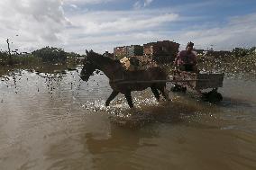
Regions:
[[[151,42],[143,45],[143,53],[160,63],[173,61],[178,54],[179,44],[169,40]]]

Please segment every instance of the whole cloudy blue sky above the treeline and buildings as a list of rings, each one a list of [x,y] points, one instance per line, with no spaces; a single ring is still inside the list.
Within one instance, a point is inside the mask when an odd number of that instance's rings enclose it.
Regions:
[[[84,54],[174,40],[185,48],[256,46],[255,0],[0,0],[0,49]]]

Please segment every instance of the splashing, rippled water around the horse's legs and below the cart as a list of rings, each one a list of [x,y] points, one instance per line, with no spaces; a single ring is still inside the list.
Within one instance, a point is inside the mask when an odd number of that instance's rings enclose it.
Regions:
[[[96,100],[83,104],[87,113],[105,112],[112,122],[120,126],[142,127],[152,122],[161,123],[191,123],[217,120],[217,109],[211,104],[197,102],[182,103],[178,100],[158,103],[154,97],[134,97],[134,108],[130,109],[125,99],[116,99],[110,106],[105,107],[105,100]],[[196,124],[196,123],[195,123]],[[202,126],[202,124],[200,125]]]

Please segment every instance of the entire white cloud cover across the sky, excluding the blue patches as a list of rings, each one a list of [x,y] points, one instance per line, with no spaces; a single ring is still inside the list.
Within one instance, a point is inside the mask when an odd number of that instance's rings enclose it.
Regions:
[[[96,2],[110,1],[114,0]],[[149,5],[152,1],[141,2]],[[85,49],[112,51],[115,46],[155,40],[175,40],[181,45],[192,40],[196,47],[205,49],[210,45],[214,45],[215,49],[256,45],[256,13],[229,18],[222,26],[213,27],[213,24],[209,26],[204,23],[204,27],[195,27],[202,18],[181,15],[177,8],[176,13],[170,8],[143,7],[130,11],[81,12],[76,9],[77,13],[65,13],[65,3],[76,8],[79,3],[93,1],[1,0],[0,49],[7,49],[7,38],[14,41],[12,49],[29,50],[50,45],[80,53]],[[192,19],[195,25],[187,25],[187,21],[191,22]],[[169,25],[177,23],[184,23],[186,27],[169,28]],[[16,37],[16,34],[19,36]]]

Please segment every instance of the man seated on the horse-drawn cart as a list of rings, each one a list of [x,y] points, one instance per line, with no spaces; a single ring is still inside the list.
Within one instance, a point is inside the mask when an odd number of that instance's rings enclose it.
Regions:
[[[192,51],[193,47],[194,43],[188,42],[186,50],[182,50],[178,53],[174,65],[178,67],[179,70],[197,72],[197,56]]]

